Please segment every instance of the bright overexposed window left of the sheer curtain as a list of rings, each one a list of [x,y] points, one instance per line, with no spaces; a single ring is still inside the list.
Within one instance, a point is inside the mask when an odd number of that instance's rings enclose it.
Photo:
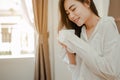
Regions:
[[[8,1],[0,0],[0,56],[33,54],[34,29],[21,14],[20,0]]]

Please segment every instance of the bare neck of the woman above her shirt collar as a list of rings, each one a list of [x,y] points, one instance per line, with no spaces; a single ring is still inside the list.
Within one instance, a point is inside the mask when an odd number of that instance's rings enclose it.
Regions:
[[[99,19],[100,18],[98,16],[96,16],[95,14],[91,14],[89,19],[85,23],[86,29],[91,30],[92,28],[94,28],[97,25]]]

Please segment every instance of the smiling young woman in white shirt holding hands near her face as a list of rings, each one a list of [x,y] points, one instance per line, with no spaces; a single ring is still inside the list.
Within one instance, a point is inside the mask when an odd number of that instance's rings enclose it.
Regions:
[[[67,51],[73,80],[120,80],[114,19],[99,17],[93,0],[59,0],[59,8],[58,41]]]

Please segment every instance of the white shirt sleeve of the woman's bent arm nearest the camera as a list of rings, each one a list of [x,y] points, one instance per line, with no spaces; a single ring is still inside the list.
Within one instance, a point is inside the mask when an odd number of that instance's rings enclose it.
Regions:
[[[104,54],[97,55],[97,51],[88,43],[78,38],[75,34],[68,31],[60,31],[60,35],[64,38],[60,42],[67,45],[69,49],[76,52],[86,63],[89,69],[96,75],[106,79],[118,77],[120,70],[120,42],[118,39],[118,31],[114,23],[106,23],[103,25],[104,30]],[[59,35],[59,37],[60,37]]]

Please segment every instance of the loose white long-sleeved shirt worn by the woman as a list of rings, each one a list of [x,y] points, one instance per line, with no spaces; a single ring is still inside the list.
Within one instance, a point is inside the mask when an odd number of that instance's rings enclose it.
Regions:
[[[58,40],[76,53],[73,80],[120,80],[120,37],[112,17],[101,18],[89,39],[83,27],[81,38],[61,30]]]

